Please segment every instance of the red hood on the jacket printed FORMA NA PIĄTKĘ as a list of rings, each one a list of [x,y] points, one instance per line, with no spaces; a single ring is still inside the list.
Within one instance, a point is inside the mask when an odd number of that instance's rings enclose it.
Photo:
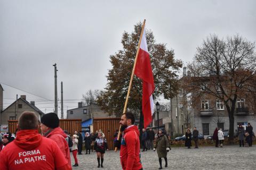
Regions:
[[[42,138],[38,130],[20,130],[13,142],[21,149],[32,150],[40,145]]]

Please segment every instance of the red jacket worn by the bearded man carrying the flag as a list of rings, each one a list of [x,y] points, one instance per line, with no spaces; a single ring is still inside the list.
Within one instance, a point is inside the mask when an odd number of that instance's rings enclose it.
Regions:
[[[123,132],[121,141],[120,159],[125,170],[141,169],[140,162],[140,132],[135,125],[129,126]]]

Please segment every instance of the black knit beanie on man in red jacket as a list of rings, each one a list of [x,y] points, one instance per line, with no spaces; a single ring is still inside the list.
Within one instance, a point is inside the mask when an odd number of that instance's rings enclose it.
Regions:
[[[47,113],[41,118],[41,123],[49,128],[58,128],[60,124],[59,117],[55,113]]]

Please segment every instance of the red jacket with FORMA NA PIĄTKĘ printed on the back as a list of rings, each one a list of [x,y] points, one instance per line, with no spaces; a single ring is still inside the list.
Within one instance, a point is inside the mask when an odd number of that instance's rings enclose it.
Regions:
[[[54,141],[42,137],[37,130],[21,130],[1,151],[0,169],[69,170],[71,166]]]

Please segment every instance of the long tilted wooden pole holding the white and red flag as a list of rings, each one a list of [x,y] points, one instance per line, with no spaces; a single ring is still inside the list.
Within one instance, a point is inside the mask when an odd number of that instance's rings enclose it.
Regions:
[[[128,99],[129,99],[129,96],[130,96],[130,91],[131,91],[131,88],[132,88],[133,75],[134,75],[134,70],[135,70],[135,66],[136,66],[136,63],[137,63],[137,58],[138,58],[138,54],[139,54],[139,50],[140,50],[140,43],[141,43],[141,38],[142,38],[142,35],[143,35],[145,23],[146,23],[146,20],[144,20],[144,22],[143,22],[141,33],[140,33],[140,40],[139,40],[138,49],[137,49],[137,53],[136,53],[134,64],[133,64],[132,75],[131,75],[131,80],[130,80],[128,92],[127,92],[126,99],[125,99],[123,114],[126,113],[126,107],[127,107]],[[121,135],[121,125],[119,127],[117,140],[120,140],[120,135]],[[117,151],[117,147],[115,148],[115,152],[116,151]]]

